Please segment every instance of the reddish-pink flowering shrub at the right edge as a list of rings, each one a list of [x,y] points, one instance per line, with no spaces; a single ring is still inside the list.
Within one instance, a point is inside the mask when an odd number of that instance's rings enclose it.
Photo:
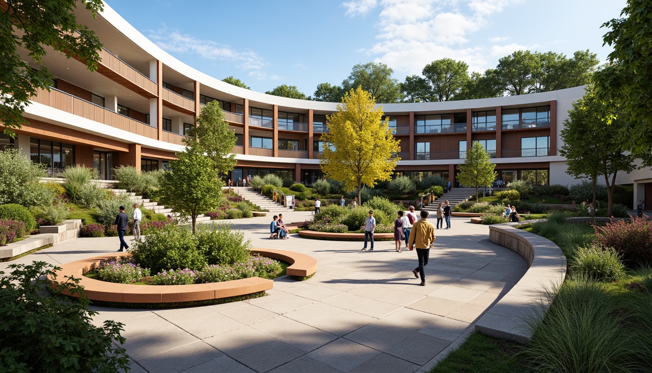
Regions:
[[[628,267],[652,263],[652,221],[643,218],[631,218],[631,223],[624,220],[606,223],[604,227],[593,226],[595,240],[604,248],[614,248],[622,255]]]

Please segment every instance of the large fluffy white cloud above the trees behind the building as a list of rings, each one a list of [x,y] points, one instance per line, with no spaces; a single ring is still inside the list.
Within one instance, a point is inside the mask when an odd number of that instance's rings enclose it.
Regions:
[[[471,46],[471,34],[481,31],[490,16],[522,0],[352,0],[342,4],[346,14],[366,14],[381,7],[378,42],[364,49],[376,62],[396,73],[420,74],[428,63],[441,58],[465,61],[470,71],[484,71],[495,53],[516,49],[508,46]],[[506,37],[489,39],[494,43]],[[501,54],[499,56],[505,56]]]

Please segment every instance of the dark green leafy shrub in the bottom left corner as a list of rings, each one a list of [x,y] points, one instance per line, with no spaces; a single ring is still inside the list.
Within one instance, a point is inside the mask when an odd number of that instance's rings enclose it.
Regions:
[[[107,320],[93,325],[97,312],[86,297],[71,300],[63,291],[79,294],[79,279],[57,279],[44,262],[10,265],[0,272],[0,370],[3,372],[118,372],[129,357],[120,335],[123,324]],[[66,281],[67,280],[67,281]]]

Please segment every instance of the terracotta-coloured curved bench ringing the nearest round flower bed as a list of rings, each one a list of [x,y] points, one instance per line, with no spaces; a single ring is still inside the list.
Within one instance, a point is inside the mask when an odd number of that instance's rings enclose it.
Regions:
[[[292,263],[286,273],[293,274],[293,276],[310,276],[317,269],[317,261],[305,254],[265,249],[252,249],[252,252],[272,259],[278,258]],[[274,284],[273,280],[250,277],[241,280],[212,282],[209,284],[132,285],[104,282],[83,276],[89,270],[98,267],[102,261],[115,259],[128,254],[128,252],[125,252],[102,255],[67,263],[61,266],[61,270],[57,272],[57,278],[59,281],[65,281],[64,276],[81,278],[80,285],[84,287],[83,292],[87,295],[88,299],[121,303],[177,303],[222,299],[259,293],[260,291],[272,289]],[[48,277],[48,280],[52,281],[52,278]],[[53,284],[50,285],[54,286]],[[65,294],[71,295],[72,297],[79,297],[77,294],[70,294],[68,292],[65,292]]]

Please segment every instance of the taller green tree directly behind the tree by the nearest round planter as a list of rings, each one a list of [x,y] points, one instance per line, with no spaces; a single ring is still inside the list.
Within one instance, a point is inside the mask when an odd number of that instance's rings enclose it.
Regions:
[[[235,167],[233,146],[237,141],[235,133],[224,120],[224,112],[218,101],[211,101],[201,108],[195,119],[196,126],[190,128],[188,137],[183,139],[186,146],[197,148],[213,162],[218,174],[228,174]]]

